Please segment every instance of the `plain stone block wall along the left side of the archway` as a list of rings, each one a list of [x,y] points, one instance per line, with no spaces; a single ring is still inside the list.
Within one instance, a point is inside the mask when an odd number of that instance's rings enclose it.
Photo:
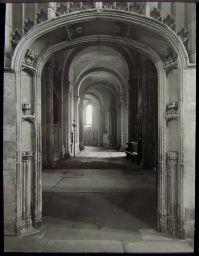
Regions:
[[[4,234],[14,235],[16,218],[16,90],[14,72],[4,72]]]

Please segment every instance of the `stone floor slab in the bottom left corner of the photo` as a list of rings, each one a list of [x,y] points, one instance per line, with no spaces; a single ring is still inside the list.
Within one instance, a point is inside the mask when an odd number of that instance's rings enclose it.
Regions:
[[[4,237],[4,252],[42,252],[48,239]]]

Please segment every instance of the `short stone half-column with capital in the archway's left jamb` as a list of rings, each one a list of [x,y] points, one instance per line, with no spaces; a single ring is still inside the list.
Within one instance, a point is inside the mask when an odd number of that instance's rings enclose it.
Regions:
[[[22,220],[24,220],[24,228],[30,230],[31,228],[31,160],[33,158],[33,152],[22,152],[23,163],[23,191],[22,191]]]

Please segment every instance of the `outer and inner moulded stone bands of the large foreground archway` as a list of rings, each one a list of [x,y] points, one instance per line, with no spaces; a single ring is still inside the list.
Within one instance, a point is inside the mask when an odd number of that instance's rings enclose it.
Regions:
[[[21,94],[20,94],[20,83],[21,83],[21,65],[22,65],[22,59],[24,57],[24,53],[28,49],[28,46],[31,44],[36,39],[39,39],[40,36],[49,31],[53,31],[54,29],[64,26],[65,24],[69,24],[70,22],[78,22],[79,20],[93,20],[95,19],[96,15],[96,10],[95,11],[90,11],[90,12],[84,12],[80,13],[80,16],[78,18],[76,16],[73,17],[73,15],[68,18],[68,20],[65,17],[58,17],[57,19],[53,21],[47,21],[44,22],[43,24],[38,25],[37,28],[33,29],[31,32],[29,32],[22,40],[19,42],[18,46],[16,47],[16,50],[14,52],[14,57],[12,60],[12,68],[16,72],[16,97],[17,97],[17,121],[16,121],[16,132],[17,132],[17,159],[16,162],[18,163],[17,165],[17,170],[16,172],[20,176],[22,164],[21,164],[21,148],[20,148],[20,143],[21,143],[21,138],[20,138],[20,131],[21,131]],[[184,223],[185,223],[185,210],[183,206],[183,168],[184,168],[184,144],[183,144],[183,139],[185,137],[185,121],[184,121],[184,103],[185,103],[185,90],[183,87],[183,83],[185,81],[185,77],[188,76],[186,73],[186,70],[191,66],[189,66],[189,60],[187,56],[187,52],[185,51],[185,48],[182,44],[182,42],[178,39],[177,35],[172,32],[171,30],[168,30],[168,28],[163,25],[163,24],[158,24],[155,21],[151,21],[146,17],[142,17],[139,15],[134,15],[134,14],[124,14],[123,12],[120,11],[106,11],[103,13],[98,13],[97,15],[98,18],[107,18],[109,19],[115,19],[118,21],[123,21],[127,23],[134,23],[134,24],[139,24],[139,26],[145,26],[145,22],[149,21],[149,26],[147,27],[148,30],[155,31],[157,34],[161,35],[163,38],[166,40],[169,40],[171,43],[171,47],[173,48],[173,51],[175,53],[178,53],[178,59],[177,59],[177,64],[179,68],[179,95],[181,98],[181,102],[179,102],[179,131],[180,131],[180,142],[179,142],[179,160],[178,160],[178,172],[179,172],[179,186],[178,190],[181,192],[181,197],[179,197],[179,214],[178,214],[178,224],[177,224],[177,233],[179,237],[183,238],[184,237]],[[48,25],[48,26],[47,26]],[[45,29],[46,26],[46,29]],[[166,230],[167,226],[167,203],[166,203],[166,188],[167,188],[167,180],[166,180],[166,152],[165,152],[165,138],[164,138],[164,129],[165,129],[165,117],[164,117],[164,110],[165,110],[165,98],[164,98],[164,90],[166,86],[166,73],[163,68],[162,60],[159,57],[159,55],[152,50],[150,47],[144,45],[143,43],[136,42],[135,40],[124,40],[121,38],[114,38],[111,37],[109,38],[108,36],[97,36],[96,38],[93,37],[85,37],[84,41],[88,40],[88,42],[92,40],[101,40],[101,41],[113,41],[113,42],[118,42],[120,44],[126,44],[129,46],[132,46],[134,48],[143,50],[144,52],[147,53],[149,58],[153,60],[155,63],[155,66],[157,68],[158,72],[158,106],[159,106],[159,113],[158,113],[158,120],[159,120],[159,156],[158,156],[158,223],[159,223],[159,230],[164,232]],[[52,56],[52,54],[55,54],[58,51],[63,50],[64,48],[66,49],[67,46],[72,46],[73,44],[81,44],[83,43],[81,40],[74,41],[74,42],[62,42],[59,45],[53,46],[51,49],[48,51],[48,55],[45,56],[45,54],[42,54],[40,59],[38,60],[38,65],[36,67],[36,73],[34,76],[34,83],[35,83],[35,102],[34,102],[34,112],[35,112],[35,117],[34,117],[34,122],[35,122],[35,133],[36,133],[36,145],[35,145],[35,170],[34,170],[34,193],[35,193],[35,205],[34,205],[34,227],[36,229],[41,228],[41,115],[40,115],[40,108],[41,108],[41,95],[40,95],[40,90],[41,90],[41,72],[42,72],[42,67]],[[84,42],[85,43],[85,42]],[[45,61],[44,61],[45,57]],[[69,88],[70,89],[70,88]],[[17,187],[20,187],[20,180],[17,180]],[[20,191],[17,191],[17,209],[16,209],[16,226],[18,228],[18,231],[20,232]]]

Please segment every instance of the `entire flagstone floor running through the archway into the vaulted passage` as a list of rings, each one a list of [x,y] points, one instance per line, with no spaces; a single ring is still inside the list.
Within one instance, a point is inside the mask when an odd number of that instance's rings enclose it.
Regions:
[[[86,149],[42,173],[42,230],[5,237],[5,252],[193,252],[157,232],[156,173],[124,152]]]

